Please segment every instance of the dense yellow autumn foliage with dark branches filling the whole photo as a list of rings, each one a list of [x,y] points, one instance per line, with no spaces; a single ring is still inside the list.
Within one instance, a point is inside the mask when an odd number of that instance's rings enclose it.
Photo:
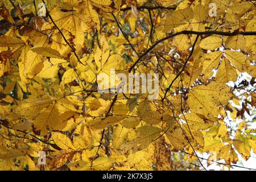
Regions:
[[[1,1],[0,169],[239,166],[256,153],[254,3]],[[158,73],[158,99],[99,93],[110,69]]]

